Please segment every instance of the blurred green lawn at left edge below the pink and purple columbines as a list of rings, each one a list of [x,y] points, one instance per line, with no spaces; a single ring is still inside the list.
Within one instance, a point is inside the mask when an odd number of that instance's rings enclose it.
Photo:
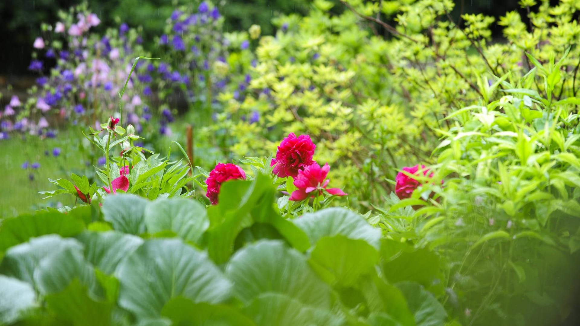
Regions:
[[[69,178],[68,171],[86,168],[82,154],[73,149],[79,143],[82,144],[74,139],[73,132],[61,132],[54,139],[40,139],[30,135],[20,138],[14,135],[12,139],[1,140],[0,171],[3,171],[3,177],[0,218],[16,216],[47,205],[74,205],[75,198],[71,195],[60,195],[43,201],[41,198],[44,195],[37,191],[57,189],[48,178]],[[61,148],[60,155],[56,157],[53,155],[55,147]],[[28,168],[23,169],[21,166],[26,161]],[[40,164],[38,169],[31,168],[34,162]]]

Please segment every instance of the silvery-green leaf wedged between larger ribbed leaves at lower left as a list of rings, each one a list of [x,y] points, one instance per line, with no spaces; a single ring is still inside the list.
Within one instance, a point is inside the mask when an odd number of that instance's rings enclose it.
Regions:
[[[118,231],[86,231],[77,237],[85,245],[85,257],[106,274],[113,274],[118,263],[143,244],[143,239]]]

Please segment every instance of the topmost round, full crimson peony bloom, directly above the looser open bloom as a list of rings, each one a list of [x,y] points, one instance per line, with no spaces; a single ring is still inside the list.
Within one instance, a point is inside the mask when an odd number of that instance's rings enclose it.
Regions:
[[[316,145],[309,135],[296,137],[293,132],[290,133],[278,146],[276,158],[271,163],[275,165],[272,172],[280,178],[296,178],[298,171],[314,163],[312,156],[315,149]]]

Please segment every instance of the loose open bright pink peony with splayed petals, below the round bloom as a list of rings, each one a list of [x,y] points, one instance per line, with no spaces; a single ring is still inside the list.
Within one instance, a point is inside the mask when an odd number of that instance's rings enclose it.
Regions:
[[[306,197],[314,197],[315,195],[321,195],[324,191],[337,196],[346,195],[344,191],[338,188],[326,189],[328,182],[330,180],[325,180],[330,170],[330,166],[325,164],[320,167],[318,163],[306,166],[306,168],[298,171],[298,176],[294,180],[294,186],[296,190],[292,191],[289,200],[300,201],[305,200]]]

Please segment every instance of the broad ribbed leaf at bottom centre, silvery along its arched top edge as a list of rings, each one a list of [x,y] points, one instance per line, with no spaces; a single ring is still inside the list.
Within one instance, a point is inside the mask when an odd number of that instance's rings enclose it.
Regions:
[[[306,305],[327,308],[330,289],[310,269],[306,258],[277,240],[261,240],[231,258],[226,274],[234,292],[249,304],[260,294],[285,294]]]

